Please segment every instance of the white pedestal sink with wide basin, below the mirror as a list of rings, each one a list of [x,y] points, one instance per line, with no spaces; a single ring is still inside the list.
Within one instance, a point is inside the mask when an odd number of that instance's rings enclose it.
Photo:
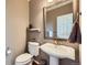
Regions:
[[[41,45],[41,50],[50,55],[50,65],[59,65],[59,58],[75,59],[75,50],[69,46],[45,43]]]

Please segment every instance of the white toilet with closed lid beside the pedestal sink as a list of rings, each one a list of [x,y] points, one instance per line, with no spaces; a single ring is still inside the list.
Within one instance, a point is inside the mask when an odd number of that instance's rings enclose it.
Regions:
[[[15,58],[15,65],[32,65],[33,56],[39,55],[40,44],[37,42],[29,42],[28,45],[29,53],[19,55]]]

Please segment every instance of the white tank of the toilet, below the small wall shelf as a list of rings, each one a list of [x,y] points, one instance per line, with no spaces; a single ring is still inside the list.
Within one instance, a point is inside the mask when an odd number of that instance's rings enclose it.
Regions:
[[[33,56],[37,56],[39,55],[40,43],[29,42],[28,45],[29,45],[29,53],[32,54]]]

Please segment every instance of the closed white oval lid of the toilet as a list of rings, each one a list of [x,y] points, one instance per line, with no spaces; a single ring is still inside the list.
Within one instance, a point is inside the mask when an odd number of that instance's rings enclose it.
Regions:
[[[31,55],[29,53],[24,53],[24,54],[18,56],[15,61],[22,63],[22,62],[31,61],[32,57],[33,57],[33,55]]]

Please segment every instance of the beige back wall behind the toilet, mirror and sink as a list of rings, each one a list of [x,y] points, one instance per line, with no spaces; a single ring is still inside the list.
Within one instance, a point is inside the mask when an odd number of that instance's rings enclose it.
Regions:
[[[53,3],[57,2],[58,0],[54,0]],[[52,3],[51,3],[52,4]],[[36,41],[43,44],[44,42],[53,42],[53,40],[44,39],[44,28],[43,28],[43,7],[50,6],[50,3],[46,3],[46,0],[31,0],[30,2],[30,23],[34,26],[41,30],[41,33],[39,35],[34,34],[33,36],[36,37]],[[62,44],[69,45],[73,47],[76,47],[78,45],[75,44],[67,44],[65,41],[59,41]],[[47,57],[46,54],[41,54],[43,57]],[[48,57],[47,57],[48,59]],[[78,65],[79,63],[75,63],[70,59],[61,59],[61,65]]]

